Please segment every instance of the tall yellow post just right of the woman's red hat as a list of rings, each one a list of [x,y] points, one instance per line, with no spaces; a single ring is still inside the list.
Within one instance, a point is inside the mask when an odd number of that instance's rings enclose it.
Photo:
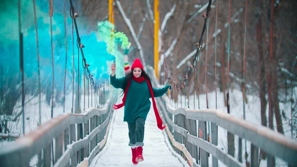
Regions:
[[[155,75],[159,80],[159,0],[154,0],[154,69]]]

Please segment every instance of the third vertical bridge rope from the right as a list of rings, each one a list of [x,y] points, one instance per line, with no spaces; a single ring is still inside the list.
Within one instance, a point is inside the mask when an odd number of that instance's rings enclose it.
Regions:
[[[230,100],[229,100],[229,73],[230,73],[230,40],[231,40],[231,0],[229,0],[229,28],[228,28],[228,65],[227,65],[227,111],[230,113]]]

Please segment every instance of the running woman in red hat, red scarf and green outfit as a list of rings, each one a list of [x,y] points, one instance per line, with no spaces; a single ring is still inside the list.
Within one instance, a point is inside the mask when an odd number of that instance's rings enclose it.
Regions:
[[[136,58],[131,66],[131,72],[122,78],[115,77],[115,64],[111,65],[110,84],[114,88],[124,90],[123,103],[114,105],[113,109],[124,107],[124,121],[128,123],[129,146],[132,150],[132,163],[138,164],[144,161],[142,152],[144,146],[145,122],[150,110],[150,101],[152,99],[153,110],[159,129],[164,129],[163,122],[157,110],[154,97],[164,95],[171,86],[166,85],[163,88],[155,89],[151,86],[148,74],[144,71],[140,59]]]

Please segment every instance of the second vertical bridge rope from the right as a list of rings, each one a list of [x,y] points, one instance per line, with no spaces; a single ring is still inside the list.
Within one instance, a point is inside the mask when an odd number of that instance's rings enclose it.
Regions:
[[[243,107],[244,107],[244,119],[246,119],[246,40],[247,40],[247,0],[245,6],[245,39],[244,39],[244,74],[243,74]],[[247,155],[247,139],[245,139],[246,155]],[[245,156],[247,162],[247,156]]]

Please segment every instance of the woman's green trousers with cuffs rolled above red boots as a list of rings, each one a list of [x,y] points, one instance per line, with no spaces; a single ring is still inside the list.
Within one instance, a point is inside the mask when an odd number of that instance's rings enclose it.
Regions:
[[[129,146],[144,146],[145,119],[137,117],[134,122],[127,122],[129,129]]]

